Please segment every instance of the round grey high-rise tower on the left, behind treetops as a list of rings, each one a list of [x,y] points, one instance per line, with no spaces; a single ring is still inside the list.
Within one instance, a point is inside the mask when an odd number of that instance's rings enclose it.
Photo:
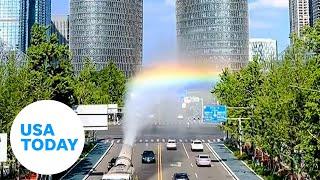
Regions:
[[[127,77],[142,64],[143,0],[71,0],[70,49],[76,72],[114,62]]]

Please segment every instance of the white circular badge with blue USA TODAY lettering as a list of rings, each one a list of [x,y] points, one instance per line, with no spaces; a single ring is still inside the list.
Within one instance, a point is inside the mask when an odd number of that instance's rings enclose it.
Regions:
[[[12,151],[30,171],[52,175],[70,168],[84,146],[78,115],[57,101],[38,101],[15,118],[10,132]]]

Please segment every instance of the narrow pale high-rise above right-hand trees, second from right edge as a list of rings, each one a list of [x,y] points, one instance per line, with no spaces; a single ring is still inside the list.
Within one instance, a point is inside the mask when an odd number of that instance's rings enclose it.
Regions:
[[[304,26],[310,25],[309,0],[289,0],[290,32],[300,34]]]

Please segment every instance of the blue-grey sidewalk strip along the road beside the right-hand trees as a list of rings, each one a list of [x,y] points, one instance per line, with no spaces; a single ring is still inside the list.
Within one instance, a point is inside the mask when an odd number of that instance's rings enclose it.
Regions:
[[[213,150],[240,180],[260,180],[242,161],[238,160],[223,144],[211,143]]]

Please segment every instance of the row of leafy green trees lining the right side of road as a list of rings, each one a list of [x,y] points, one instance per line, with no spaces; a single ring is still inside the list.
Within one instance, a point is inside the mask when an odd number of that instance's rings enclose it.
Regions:
[[[293,35],[281,61],[259,57],[239,72],[225,70],[213,93],[229,108],[224,128],[239,142],[277,159],[292,174],[320,178],[320,23]],[[267,67],[267,68],[266,68]],[[237,107],[237,108],[231,108]],[[243,118],[239,131],[239,121]],[[248,118],[248,120],[245,120]]]

